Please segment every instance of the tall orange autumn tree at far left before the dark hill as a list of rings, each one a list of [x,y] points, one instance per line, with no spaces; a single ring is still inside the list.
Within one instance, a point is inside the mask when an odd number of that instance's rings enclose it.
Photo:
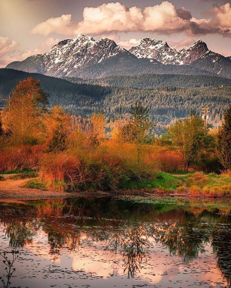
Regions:
[[[15,143],[31,144],[42,133],[42,118],[48,104],[39,80],[32,77],[19,81],[7,107],[1,111],[3,130]]]

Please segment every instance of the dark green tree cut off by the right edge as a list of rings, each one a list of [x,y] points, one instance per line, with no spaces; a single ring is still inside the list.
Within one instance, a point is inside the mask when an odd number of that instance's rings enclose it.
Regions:
[[[223,124],[217,136],[217,154],[224,168],[231,170],[231,106],[225,112]]]

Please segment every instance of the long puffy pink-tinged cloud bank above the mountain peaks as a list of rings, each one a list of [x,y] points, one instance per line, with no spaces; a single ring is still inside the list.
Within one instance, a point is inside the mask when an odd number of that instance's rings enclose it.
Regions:
[[[186,8],[176,9],[169,1],[145,7],[144,10],[136,6],[128,8],[119,2],[104,3],[97,7],[85,7],[83,20],[78,23],[72,21],[71,14],[66,14],[39,23],[31,33],[77,36],[79,33],[100,35],[145,31],[166,35],[185,32],[190,36],[211,33],[231,36],[230,3],[214,7],[205,14],[210,18],[194,18]]]

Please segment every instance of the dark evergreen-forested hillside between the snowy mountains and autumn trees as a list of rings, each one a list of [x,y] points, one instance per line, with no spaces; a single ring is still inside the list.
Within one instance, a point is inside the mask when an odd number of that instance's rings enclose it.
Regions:
[[[20,79],[29,76],[40,80],[42,89],[50,95],[50,106],[62,105],[66,111],[83,117],[102,111],[107,121],[119,117],[120,113],[126,114],[132,104],[141,101],[150,108],[160,126],[169,124],[174,118],[185,117],[191,111],[200,113],[203,106],[211,109],[209,121],[217,125],[231,103],[231,80],[206,75],[146,74],[89,81],[68,78],[69,81],[66,81],[0,69],[0,95],[7,96]]]

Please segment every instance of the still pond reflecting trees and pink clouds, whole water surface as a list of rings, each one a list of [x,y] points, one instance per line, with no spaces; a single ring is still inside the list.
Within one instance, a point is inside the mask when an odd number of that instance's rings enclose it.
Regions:
[[[230,208],[146,198],[0,201],[0,287],[231,287]]]

